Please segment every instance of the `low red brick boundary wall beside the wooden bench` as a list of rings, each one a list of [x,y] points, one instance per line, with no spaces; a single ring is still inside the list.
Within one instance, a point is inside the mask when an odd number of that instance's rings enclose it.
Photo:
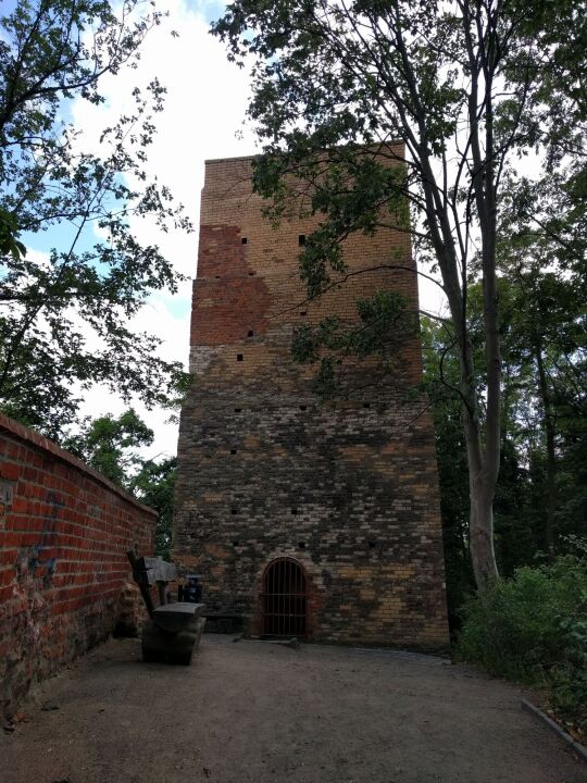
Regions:
[[[128,613],[126,550],[157,513],[0,414],[0,706],[105,639]]]

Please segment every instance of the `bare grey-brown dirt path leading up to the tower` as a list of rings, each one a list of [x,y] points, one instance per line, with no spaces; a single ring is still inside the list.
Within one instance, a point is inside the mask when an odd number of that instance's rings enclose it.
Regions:
[[[3,783],[587,781],[515,688],[409,654],[208,635],[184,668],[111,641],[25,709]]]

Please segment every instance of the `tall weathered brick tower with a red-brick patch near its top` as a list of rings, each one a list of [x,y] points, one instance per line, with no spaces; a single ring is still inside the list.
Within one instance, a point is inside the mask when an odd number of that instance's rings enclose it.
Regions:
[[[442,648],[448,643],[430,418],[396,385],[323,403],[290,358],[294,328],[350,318],[380,289],[417,306],[416,275],[374,271],[302,303],[300,244],[313,219],[274,229],[251,159],[207,162],[182,412],[174,559],[202,574],[207,610],[251,633]],[[349,269],[413,269],[404,234],[345,245]],[[404,384],[422,375],[407,339]],[[365,370],[366,372],[366,370]]]

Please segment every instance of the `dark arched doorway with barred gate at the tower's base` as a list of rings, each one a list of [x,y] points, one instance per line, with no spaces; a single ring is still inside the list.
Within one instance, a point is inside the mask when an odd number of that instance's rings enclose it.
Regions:
[[[307,633],[305,574],[291,558],[273,560],[263,575],[263,634],[298,636]]]

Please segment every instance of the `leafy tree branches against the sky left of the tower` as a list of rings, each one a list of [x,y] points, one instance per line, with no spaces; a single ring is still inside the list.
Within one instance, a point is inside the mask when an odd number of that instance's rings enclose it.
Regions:
[[[137,86],[99,152],[67,119],[73,99],[104,102],[102,78],[136,67],[161,17],[143,0],[17,0],[0,17],[0,405],[51,437],[75,418],[75,388],[102,382],[153,406],[183,378],[129,326],[178,282],[130,220],[189,228],[145,171],[165,90]],[[47,257],[26,251],[37,244]]]

